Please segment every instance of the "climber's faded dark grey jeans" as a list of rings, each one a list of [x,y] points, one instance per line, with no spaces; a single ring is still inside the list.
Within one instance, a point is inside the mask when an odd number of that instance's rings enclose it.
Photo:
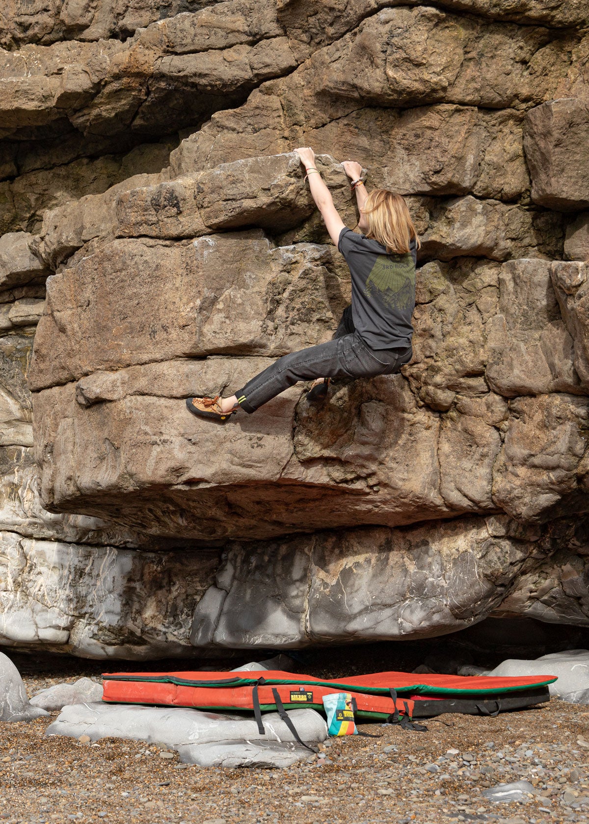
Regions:
[[[412,349],[370,349],[354,329],[351,307],[347,307],[333,339],[278,358],[252,377],[235,394],[246,412],[255,412],[298,381],[316,377],[375,377],[398,372],[412,357]]]

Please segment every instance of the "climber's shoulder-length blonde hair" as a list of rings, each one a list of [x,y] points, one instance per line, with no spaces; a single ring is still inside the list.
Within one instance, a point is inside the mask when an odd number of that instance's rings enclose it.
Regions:
[[[421,246],[407,204],[400,194],[388,189],[372,190],[366,196],[362,213],[368,224],[366,237],[379,241],[389,253],[405,254],[413,238],[417,249]]]

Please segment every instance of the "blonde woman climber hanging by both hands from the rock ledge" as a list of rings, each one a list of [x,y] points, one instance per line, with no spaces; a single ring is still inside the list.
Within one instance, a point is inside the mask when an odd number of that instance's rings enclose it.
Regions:
[[[307,400],[327,397],[332,377],[375,377],[398,372],[412,357],[411,318],[415,307],[415,265],[419,240],[400,194],[376,189],[370,194],[360,163],[343,163],[360,209],[358,234],[348,229],[332,195],[315,168],[311,148],[295,150],[304,164],[313,200],[327,232],[342,252],[351,274],[351,306],[344,310],[333,339],[278,358],[228,398],[188,398],[200,418],[221,423],[239,409],[255,412],[297,381],[314,380]]]

